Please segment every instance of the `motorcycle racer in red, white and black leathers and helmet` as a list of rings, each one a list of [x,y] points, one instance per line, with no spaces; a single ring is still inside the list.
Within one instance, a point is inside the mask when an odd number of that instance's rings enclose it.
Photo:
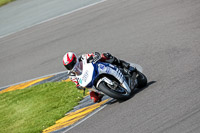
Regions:
[[[74,73],[73,69],[75,68],[75,66],[77,64],[79,64],[80,61],[82,61],[83,58],[86,58],[87,61],[89,62],[89,61],[93,60],[94,57],[95,57],[95,53],[83,54],[79,57],[77,57],[74,52],[67,52],[64,55],[63,65],[68,70],[69,78],[71,79],[71,81],[73,81],[76,84],[76,87],[78,89],[84,89],[84,88],[79,85],[78,79],[76,77],[77,74]],[[112,56],[110,53],[102,53],[100,61],[111,63],[113,65],[117,65],[117,66],[123,68],[126,73],[130,73],[130,71],[129,71],[130,64],[123,60],[117,59],[116,57]],[[95,103],[100,102],[102,97],[103,97],[103,94],[101,94],[101,93],[94,92],[94,91],[90,92],[90,98]]]

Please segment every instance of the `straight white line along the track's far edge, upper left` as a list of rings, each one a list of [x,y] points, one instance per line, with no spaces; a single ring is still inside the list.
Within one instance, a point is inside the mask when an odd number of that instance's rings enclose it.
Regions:
[[[88,8],[88,7],[91,7],[91,6],[94,6],[94,5],[97,5],[97,4],[100,4],[100,3],[103,3],[103,2],[105,2],[105,1],[107,1],[107,0],[102,0],[102,1],[99,1],[99,2],[96,2],[96,3],[92,3],[92,4],[90,4],[90,5],[83,6],[83,7],[81,7],[81,8],[78,8],[78,9],[72,10],[72,11],[70,11],[70,12],[63,13],[63,14],[61,14],[61,15],[59,15],[59,16],[52,17],[52,18],[50,18],[50,19],[47,19],[47,20],[41,21],[41,22],[39,22],[39,23],[36,23],[36,24],[34,24],[34,25],[31,25],[31,26],[28,26],[28,27],[26,27],[26,28],[24,28],[24,29],[21,29],[21,30],[19,30],[19,31],[11,32],[11,33],[9,33],[9,34],[6,34],[6,35],[3,35],[3,36],[0,36],[0,39],[1,39],[1,38],[4,38],[4,37],[6,37],[6,36],[9,36],[9,35],[15,34],[15,33],[17,33],[17,32],[23,31],[23,30],[25,30],[25,29],[28,29],[28,28],[34,27],[34,26],[36,26],[36,25],[39,25],[39,24],[42,24],[42,23],[45,23],[45,22],[48,22],[48,21],[51,21],[51,20],[54,20],[54,19],[60,18],[60,17],[62,17],[62,16],[69,15],[69,14],[72,14],[72,13],[74,13],[74,12],[77,12],[77,11],[83,10],[83,9],[85,9],[85,8]]]

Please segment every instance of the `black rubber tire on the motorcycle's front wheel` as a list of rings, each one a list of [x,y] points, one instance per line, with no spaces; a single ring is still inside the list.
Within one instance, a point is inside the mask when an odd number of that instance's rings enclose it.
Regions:
[[[131,97],[131,94],[128,94],[128,93],[120,93],[120,92],[117,92],[113,89],[111,89],[106,82],[101,82],[99,84],[99,90],[102,91],[103,93],[105,93],[106,95],[114,98],[114,99],[118,99],[118,100],[127,100]]]

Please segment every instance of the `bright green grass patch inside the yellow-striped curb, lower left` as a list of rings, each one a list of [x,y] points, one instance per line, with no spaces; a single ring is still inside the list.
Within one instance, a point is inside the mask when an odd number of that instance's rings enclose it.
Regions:
[[[0,94],[0,132],[40,133],[82,98],[72,82],[45,83]]]

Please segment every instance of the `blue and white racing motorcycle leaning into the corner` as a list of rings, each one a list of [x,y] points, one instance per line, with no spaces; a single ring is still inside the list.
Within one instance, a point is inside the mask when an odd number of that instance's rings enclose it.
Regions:
[[[136,88],[147,85],[146,76],[135,66],[130,65],[126,73],[124,68],[100,62],[99,53],[95,53],[94,59],[88,62],[83,58],[75,67],[79,85],[84,88],[94,88],[114,99],[127,100],[131,97]]]

